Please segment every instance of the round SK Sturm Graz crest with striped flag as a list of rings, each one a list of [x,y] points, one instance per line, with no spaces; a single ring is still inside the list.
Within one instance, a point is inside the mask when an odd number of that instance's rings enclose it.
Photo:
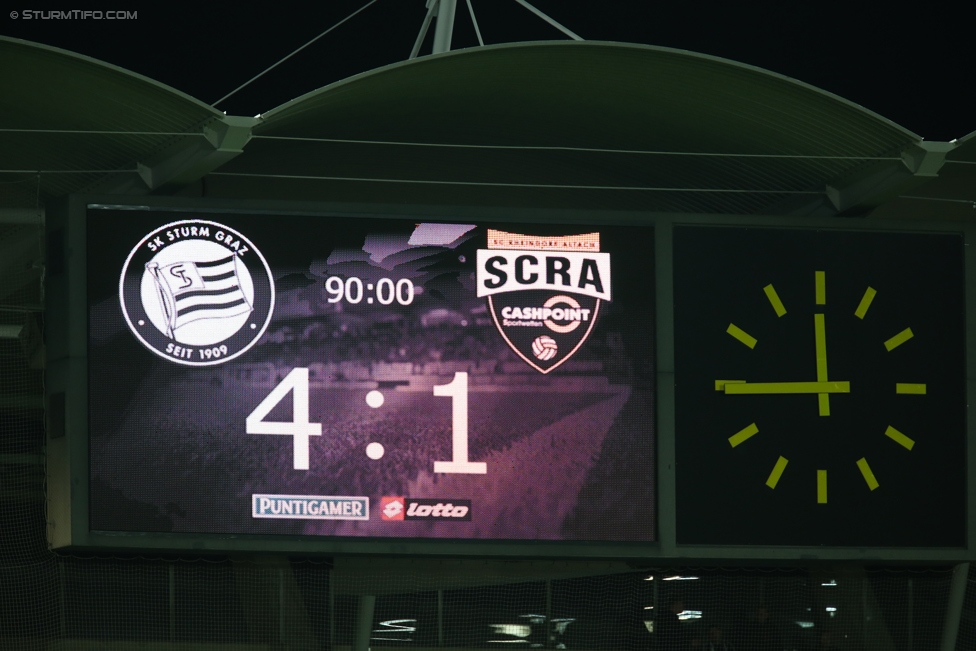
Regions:
[[[119,299],[129,328],[177,364],[234,359],[264,334],[274,279],[261,252],[223,224],[173,222],[136,245],[122,268]]]

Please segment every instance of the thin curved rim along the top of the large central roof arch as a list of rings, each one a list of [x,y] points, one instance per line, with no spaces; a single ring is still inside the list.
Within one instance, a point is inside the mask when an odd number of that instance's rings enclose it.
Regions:
[[[916,141],[922,140],[922,136],[918,135],[917,133],[915,133],[915,132],[913,132],[913,131],[911,131],[911,130],[903,127],[903,126],[901,126],[900,124],[894,122],[893,120],[890,120],[890,119],[884,117],[883,115],[880,115],[879,113],[876,113],[876,112],[874,112],[874,111],[872,111],[872,110],[870,110],[868,108],[865,108],[864,106],[861,106],[860,104],[857,104],[856,102],[852,102],[852,101],[850,101],[848,99],[845,99],[845,98],[843,98],[843,97],[841,97],[839,95],[836,95],[834,93],[831,93],[830,91],[823,90],[822,88],[818,88],[817,86],[813,86],[813,85],[808,84],[806,82],[799,81],[797,79],[794,79],[792,77],[788,77],[788,76],[783,75],[783,74],[780,74],[778,72],[772,72],[770,70],[766,70],[765,68],[760,68],[758,66],[749,65],[749,64],[746,64],[746,63],[740,63],[738,61],[733,61],[731,59],[725,59],[725,58],[718,57],[718,56],[713,56],[713,55],[710,55],[710,54],[702,54],[700,52],[692,52],[691,50],[682,50],[682,49],[669,48],[669,47],[663,47],[663,46],[658,46],[658,45],[644,45],[644,44],[641,44],[641,43],[621,43],[621,42],[616,42],[616,41],[528,41],[528,42],[519,42],[519,43],[499,43],[499,44],[496,44],[496,45],[485,45],[485,46],[479,46],[479,47],[465,48],[465,49],[461,49],[461,50],[451,50],[450,52],[443,52],[443,53],[440,53],[440,54],[432,54],[432,55],[427,55],[427,56],[423,56],[423,57],[417,57],[416,59],[408,59],[406,61],[398,61],[397,63],[391,63],[389,65],[382,66],[380,68],[374,68],[372,70],[367,70],[366,72],[361,72],[361,73],[359,73],[357,75],[353,75],[351,77],[346,77],[345,79],[340,79],[339,81],[333,82],[333,83],[328,84],[326,86],[322,86],[321,88],[317,88],[317,89],[315,89],[313,91],[309,91],[308,93],[305,93],[304,95],[300,95],[300,96],[296,97],[293,100],[290,100],[288,102],[285,102],[284,104],[281,104],[280,106],[276,106],[275,108],[270,109],[267,112],[261,113],[261,119],[262,119],[262,121],[264,121],[266,123],[267,122],[273,122],[278,115],[282,115],[282,114],[287,113],[288,109],[291,109],[291,108],[294,108],[294,107],[299,106],[301,104],[304,104],[306,102],[309,102],[309,101],[311,101],[312,99],[314,99],[316,97],[325,95],[327,93],[334,92],[334,91],[336,91],[338,89],[341,89],[342,87],[347,86],[349,84],[356,83],[358,81],[361,81],[363,79],[369,78],[371,76],[386,74],[386,73],[389,73],[391,71],[397,70],[399,68],[405,68],[405,67],[408,67],[408,66],[416,66],[416,65],[424,65],[425,63],[428,63],[431,60],[439,60],[439,59],[444,59],[444,58],[447,58],[447,57],[471,56],[473,54],[480,54],[480,53],[484,53],[484,52],[492,51],[492,50],[497,51],[497,50],[510,50],[510,49],[517,49],[517,48],[542,48],[542,47],[546,47],[546,48],[564,48],[564,47],[586,48],[586,47],[599,47],[599,48],[619,48],[619,49],[630,49],[630,50],[644,50],[644,51],[651,51],[651,52],[659,52],[659,53],[662,53],[662,54],[686,56],[688,58],[698,59],[700,61],[707,61],[707,62],[710,62],[710,63],[716,63],[716,64],[720,64],[720,65],[726,65],[726,66],[729,66],[731,68],[735,68],[735,69],[738,69],[738,70],[743,70],[743,71],[747,71],[747,72],[752,72],[752,73],[756,73],[756,74],[759,74],[759,75],[763,75],[763,76],[766,76],[768,78],[771,78],[771,79],[774,79],[774,80],[777,80],[777,81],[781,81],[781,82],[786,82],[788,84],[792,84],[792,85],[796,86],[797,88],[801,88],[801,89],[806,90],[806,91],[814,92],[816,94],[821,95],[822,97],[824,97],[826,99],[829,99],[829,100],[835,101],[835,102],[837,102],[839,104],[842,104],[842,105],[844,105],[847,108],[854,109],[854,110],[858,111],[859,113],[861,113],[862,115],[864,115],[866,117],[869,117],[871,119],[877,120],[879,122],[883,122],[883,123],[887,124],[888,126],[890,126],[890,127],[894,128],[894,129],[897,129],[897,130],[901,131],[907,137],[909,137],[909,138],[911,138],[913,140],[916,140]]]

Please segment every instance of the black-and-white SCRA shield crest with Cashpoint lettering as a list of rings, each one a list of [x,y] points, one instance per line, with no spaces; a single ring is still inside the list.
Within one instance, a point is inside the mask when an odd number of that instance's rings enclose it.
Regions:
[[[535,236],[488,229],[478,250],[478,296],[502,337],[540,373],[572,357],[610,300],[610,254],[600,234]]]

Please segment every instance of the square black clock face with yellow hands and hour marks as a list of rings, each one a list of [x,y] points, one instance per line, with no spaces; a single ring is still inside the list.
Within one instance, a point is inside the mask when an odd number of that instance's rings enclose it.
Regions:
[[[965,544],[961,235],[674,230],[677,540]]]

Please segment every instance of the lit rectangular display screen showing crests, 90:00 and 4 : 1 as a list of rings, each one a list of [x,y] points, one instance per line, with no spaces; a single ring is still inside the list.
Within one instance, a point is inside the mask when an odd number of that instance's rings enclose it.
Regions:
[[[90,528],[656,539],[653,230],[88,211]]]

